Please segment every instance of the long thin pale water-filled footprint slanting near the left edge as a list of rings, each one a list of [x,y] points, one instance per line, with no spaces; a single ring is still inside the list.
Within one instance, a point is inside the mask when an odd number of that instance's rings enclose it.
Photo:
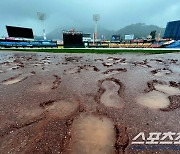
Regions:
[[[11,77],[7,80],[2,81],[3,85],[12,85],[12,84],[16,84],[19,82],[22,82],[24,80],[26,80],[28,77],[33,76],[34,74],[23,74],[23,75],[17,75],[14,77]]]

